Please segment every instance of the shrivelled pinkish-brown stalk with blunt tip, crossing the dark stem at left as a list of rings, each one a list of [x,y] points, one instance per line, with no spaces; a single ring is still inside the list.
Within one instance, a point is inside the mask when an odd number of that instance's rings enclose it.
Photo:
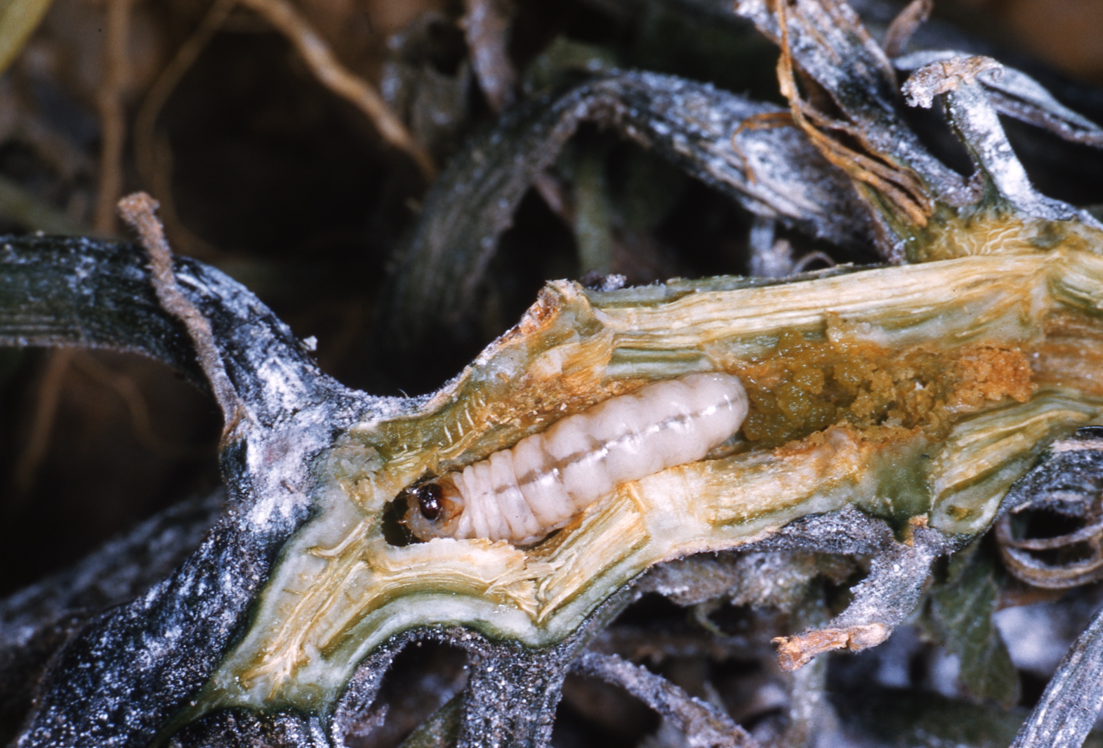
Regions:
[[[144,192],[136,192],[119,201],[119,215],[138,232],[142,246],[152,259],[150,269],[158,301],[170,314],[188,327],[199,353],[200,365],[226,418],[228,434],[244,415],[245,409],[222,363],[222,354],[215,344],[211,323],[176,286],[176,277],[172,271],[172,250],[164,239],[164,227],[153,215],[157,209],[158,202]]]

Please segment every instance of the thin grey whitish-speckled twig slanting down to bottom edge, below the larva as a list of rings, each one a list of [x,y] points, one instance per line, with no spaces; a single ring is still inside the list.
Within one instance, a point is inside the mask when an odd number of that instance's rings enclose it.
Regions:
[[[694,747],[757,748],[758,741],[720,709],[695,698],[666,678],[613,654],[586,652],[574,665],[582,675],[619,685],[677,725]]]

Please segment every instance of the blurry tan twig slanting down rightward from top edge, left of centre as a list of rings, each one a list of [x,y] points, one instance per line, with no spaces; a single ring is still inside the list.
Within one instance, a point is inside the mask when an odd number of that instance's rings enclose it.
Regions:
[[[340,62],[306,18],[287,0],[243,0],[295,44],[311,72],[326,88],[347,99],[375,124],[384,140],[417,162],[429,180],[437,174],[429,153],[414,140],[401,120],[387,107],[379,93]]]

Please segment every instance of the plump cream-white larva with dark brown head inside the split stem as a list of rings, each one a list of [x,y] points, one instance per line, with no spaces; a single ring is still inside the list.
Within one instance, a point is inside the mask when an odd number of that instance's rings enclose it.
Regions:
[[[739,430],[747,407],[730,374],[649,384],[408,489],[406,524],[421,539],[534,543],[617,485],[702,459]]]

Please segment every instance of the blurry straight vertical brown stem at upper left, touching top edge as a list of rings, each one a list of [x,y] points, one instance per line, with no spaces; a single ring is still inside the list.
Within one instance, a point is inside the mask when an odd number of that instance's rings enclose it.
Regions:
[[[96,92],[101,136],[94,227],[100,234],[115,232],[115,202],[122,192],[122,145],[127,135],[122,95],[129,79],[127,49],[132,3],[133,0],[108,0],[107,3],[104,79]]]

